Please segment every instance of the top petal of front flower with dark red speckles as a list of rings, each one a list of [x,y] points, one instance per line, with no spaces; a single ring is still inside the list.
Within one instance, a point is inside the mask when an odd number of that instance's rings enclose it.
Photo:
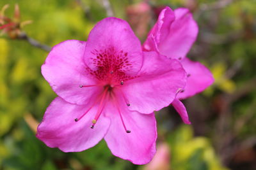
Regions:
[[[129,68],[122,68],[126,74],[136,74],[143,61],[140,40],[135,36],[129,24],[118,18],[105,18],[98,22],[89,34],[84,51],[84,62],[92,70],[97,70],[100,53],[111,56],[111,62],[118,56],[127,56]]]

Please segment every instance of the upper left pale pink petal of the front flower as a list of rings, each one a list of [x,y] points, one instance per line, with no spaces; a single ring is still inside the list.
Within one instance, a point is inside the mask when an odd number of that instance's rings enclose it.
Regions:
[[[102,91],[99,87],[79,87],[97,84],[83,64],[85,45],[84,41],[64,41],[52,48],[42,66],[42,74],[54,92],[74,104],[86,104]]]

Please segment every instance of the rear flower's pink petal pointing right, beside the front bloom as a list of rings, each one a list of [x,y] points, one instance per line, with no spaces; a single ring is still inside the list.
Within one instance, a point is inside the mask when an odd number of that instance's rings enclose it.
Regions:
[[[177,95],[178,99],[186,99],[190,96],[204,91],[209,87],[214,79],[211,71],[200,62],[189,60],[187,57],[181,61],[182,66],[188,74],[188,80],[184,91]]]

